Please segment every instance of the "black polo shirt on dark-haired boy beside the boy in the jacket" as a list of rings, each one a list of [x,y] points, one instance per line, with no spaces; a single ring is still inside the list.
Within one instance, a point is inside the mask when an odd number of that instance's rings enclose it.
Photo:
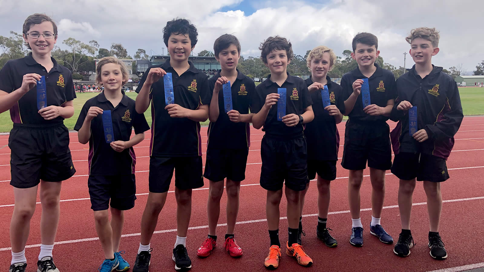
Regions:
[[[377,70],[373,73],[370,78],[368,78],[368,85],[370,86],[370,102],[371,104],[375,104],[377,106],[387,106],[387,101],[390,99],[396,99],[396,84],[395,84],[395,76],[393,73],[382,69],[375,63]],[[353,93],[353,82],[357,79],[363,79],[366,76],[360,72],[360,68],[356,67],[353,71],[350,71],[343,75],[341,78],[341,87],[343,87],[343,95],[345,100]],[[379,116],[371,116],[366,114],[363,111],[363,100],[362,94],[358,96],[356,99],[355,106],[353,110],[348,114],[349,121],[355,122],[375,122],[381,121],[386,122],[390,117],[379,115]]]

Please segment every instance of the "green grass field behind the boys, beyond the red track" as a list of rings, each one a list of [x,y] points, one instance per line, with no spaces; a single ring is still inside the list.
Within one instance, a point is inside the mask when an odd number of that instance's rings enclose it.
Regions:
[[[258,82],[256,82],[257,84]],[[484,88],[479,87],[464,87],[459,88],[460,99],[464,115],[484,115]],[[72,130],[76,124],[77,117],[81,111],[84,103],[91,97],[99,94],[98,92],[76,93],[77,98],[74,99],[74,116],[64,121],[64,124]],[[136,99],[136,92],[127,92],[127,95]],[[145,112],[145,117],[151,126],[151,107]],[[346,120],[346,118],[345,118]],[[201,122],[202,125],[208,125],[209,121]],[[12,129],[12,120],[10,119],[10,112],[6,111],[0,113],[0,132],[9,132]]]

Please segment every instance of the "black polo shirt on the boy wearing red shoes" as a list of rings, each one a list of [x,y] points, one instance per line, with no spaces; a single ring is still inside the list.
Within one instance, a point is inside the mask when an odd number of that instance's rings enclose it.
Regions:
[[[220,71],[209,79],[210,93],[213,95],[215,82],[220,77]],[[256,84],[254,80],[244,76],[237,69],[237,79],[232,84],[232,108],[240,114],[248,114],[250,97],[253,95]],[[210,122],[208,129],[209,149],[244,149],[250,146],[250,125],[243,122],[232,122],[225,113],[224,92],[218,93],[217,121]]]

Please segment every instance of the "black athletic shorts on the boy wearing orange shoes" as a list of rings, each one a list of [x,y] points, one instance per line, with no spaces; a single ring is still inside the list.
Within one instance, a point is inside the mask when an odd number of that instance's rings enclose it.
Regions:
[[[302,191],[309,182],[307,178],[307,147],[304,136],[284,139],[264,135],[260,144],[262,168],[260,186],[269,191],[287,188]]]

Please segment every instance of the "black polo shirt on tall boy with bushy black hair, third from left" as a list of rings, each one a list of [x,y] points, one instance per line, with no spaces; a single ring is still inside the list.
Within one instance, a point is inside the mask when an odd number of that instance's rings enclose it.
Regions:
[[[199,103],[210,104],[207,76],[188,61],[190,68],[180,76],[171,67],[170,59],[162,65],[151,66],[141,78],[136,92],[139,93],[151,68],[161,68],[172,73],[175,104],[196,110]],[[151,147],[150,156],[189,157],[202,155],[200,122],[188,118],[172,118],[165,109],[165,84],[163,78],[151,85]]]

